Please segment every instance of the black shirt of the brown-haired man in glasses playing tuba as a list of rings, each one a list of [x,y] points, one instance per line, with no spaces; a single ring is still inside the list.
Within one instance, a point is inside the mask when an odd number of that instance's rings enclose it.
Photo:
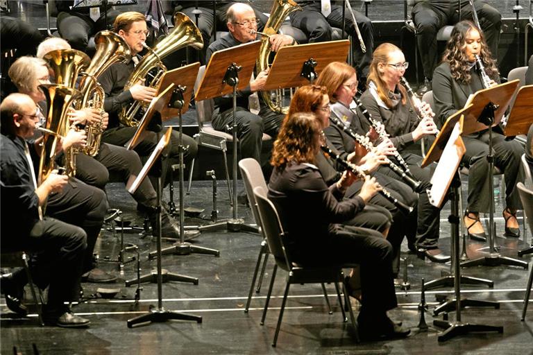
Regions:
[[[105,92],[103,109],[109,113],[108,128],[119,126],[119,112],[124,105],[133,102],[130,90],[124,91],[130,74],[135,69],[133,60],[128,63],[115,63],[98,78]]]

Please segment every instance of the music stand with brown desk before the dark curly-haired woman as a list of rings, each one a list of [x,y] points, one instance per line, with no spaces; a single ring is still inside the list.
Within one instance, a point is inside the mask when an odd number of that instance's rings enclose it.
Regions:
[[[486,130],[489,127],[489,154],[487,155],[487,161],[489,162],[489,194],[490,194],[490,206],[489,206],[489,255],[487,257],[480,257],[470,261],[465,261],[461,264],[463,267],[467,266],[499,266],[499,265],[512,265],[521,266],[525,269],[528,268],[528,263],[522,260],[512,259],[510,257],[502,257],[496,248],[496,230],[494,225],[494,187],[493,187],[493,170],[494,170],[494,152],[492,142],[492,128],[502,119],[505,110],[511,102],[511,98],[514,96],[516,87],[520,81],[513,80],[509,83],[496,85],[489,89],[482,89],[476,92],[469,100],[468,103],[472,103],[473,107],[469,110],[468,114],[462,119],[462,135],[471,135],[472,133]]]

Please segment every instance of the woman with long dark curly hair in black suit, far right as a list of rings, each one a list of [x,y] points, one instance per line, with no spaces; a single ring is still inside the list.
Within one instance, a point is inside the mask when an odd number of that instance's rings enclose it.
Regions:
[[[475,65],[475,55],[479,55],[487,76],[496,85],[500,73],[488,49],[484,35],[471,21],[460,21],[455,25],[442,62],[435,69],[433,76],[433,96],[435,101],[436,121],[443,124],[446,119],[464,107],[468,96],[484,88],[480,71]],[[459,58],[459,59],[458,59]],[[492,128],[494,165],[505,174],[505,234],[520,236],[516,210],[521,209],[521,201],[516,189],[516,182],[523,181],[519,168],[523,146],[515,140],[506,140],[500,127]],[[463,137],[466,154],[464,164],[469,168],[468,203],[464,223],[471,238],[485,240],[483,225],[479,220],[480,212],[488,212],[489,204],[489,130],[482,130]]]

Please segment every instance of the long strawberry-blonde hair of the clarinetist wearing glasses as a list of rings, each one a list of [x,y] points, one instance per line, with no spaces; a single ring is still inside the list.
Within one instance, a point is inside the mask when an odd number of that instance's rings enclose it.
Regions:
[[[387,86],[387,83],[385,83],[385,80],[380,76],[380,71],[378,70],[378,64],[384,63],[387,64],[389,62],[389,55],[392,52],[402,50],[398,48],[398,46],[395,46],[391,43],[382,43],[374,50],[374,53],[372,54],[372,62],[370,63],[370,69],[369,69],[369,76],[366,78],[366,84],[368,85],[371,81],[375,84],[376,87],[378,87],[378,95],[380,96],[381,100],[387,105],[389,108],[393,107],[392,100],[389,98],[389,87]],[[398,89],[400,90],[400,93],[402,94],[402,105],[405,105],[406,97],[407,97],[407,91],[403,87],[403,85],[398,85]]]

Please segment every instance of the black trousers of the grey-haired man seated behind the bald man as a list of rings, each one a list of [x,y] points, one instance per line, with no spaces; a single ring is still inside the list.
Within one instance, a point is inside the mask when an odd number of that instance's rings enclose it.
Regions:
[[[71,178],[62,191],[51,193],[46,205],[46,215],[81,227],[87,234],[87,249],[83,257],[83,272],[92,270],[92,253],[103,225],[108,201],[101,189]]]

